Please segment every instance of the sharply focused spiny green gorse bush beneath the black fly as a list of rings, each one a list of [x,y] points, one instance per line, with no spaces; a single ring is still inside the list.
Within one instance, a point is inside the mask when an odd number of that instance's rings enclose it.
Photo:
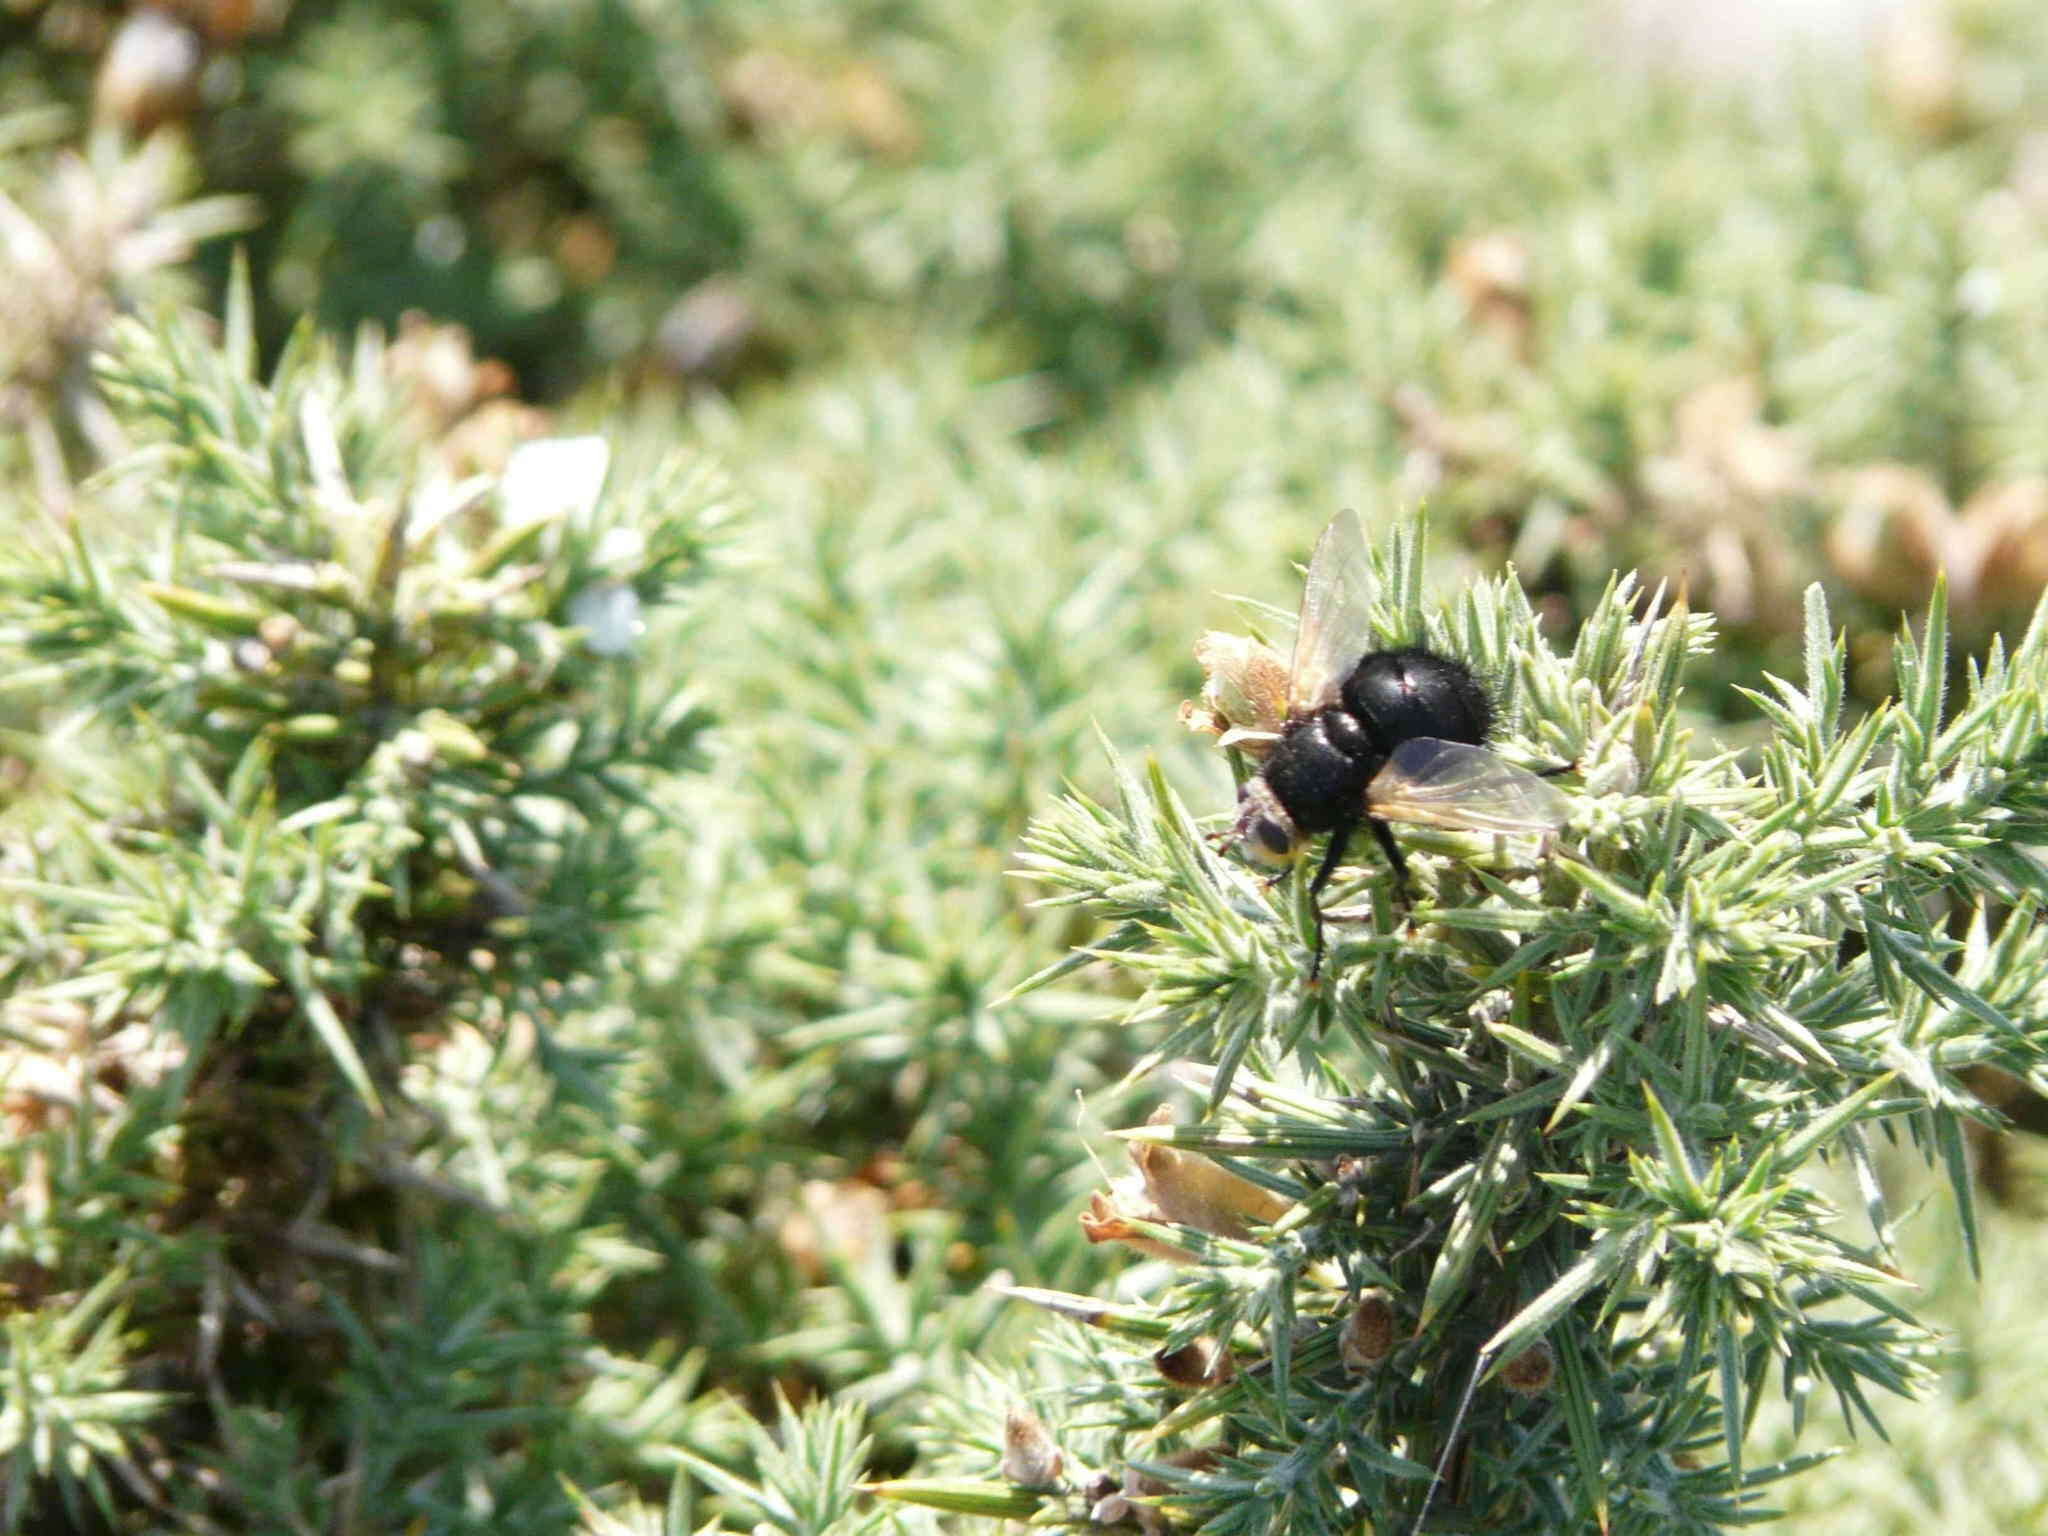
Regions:
[[[1083,1221],[1167,1260],[1143,1300],[1022,1292],[1122,1346],[1036,1395],[1038,1454],[1012,1423],[1036,1520],[1710,1532],[1812,1460],[1745,1456],[1761,1399],[1880,1427],[1872,1389],[1923,1380],[1874,1147],[1937,1163],[1974,1243],[1962,1077],[2048,1044],[2048,610],[1950,696],[1937,600],[1851,719],[1812,590],[1804,678],[1761,680],[1765,739],[1716,752],[1679,725],[1704,616],[1618,580],[1559,655],[1511,582],[1425,608],[1417,537],[1376,635],[1473,659],[1501,750],[1573,764],[1552,852],[1397,831],[1415,909],[1376,864],[1339,877],[1362,905],[1313,981],[1307,870],[1219,856],[1157,772],[1026,838],[1200,1098],[1122,1133],[1141,1178]]]

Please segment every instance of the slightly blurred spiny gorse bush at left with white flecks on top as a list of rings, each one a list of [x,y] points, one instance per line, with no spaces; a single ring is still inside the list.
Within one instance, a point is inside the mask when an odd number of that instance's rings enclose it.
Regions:
[[[0,569],[51,727],[0,844],[0,1526],[547,1526],[674,1393],[590,1339],[649,1255],[575,1116],[709,725],[635,659],[723,489],[600,438],[461,475],[375,338],[252,358],[246,295],[219,342],[127,324],[131,453]]]

